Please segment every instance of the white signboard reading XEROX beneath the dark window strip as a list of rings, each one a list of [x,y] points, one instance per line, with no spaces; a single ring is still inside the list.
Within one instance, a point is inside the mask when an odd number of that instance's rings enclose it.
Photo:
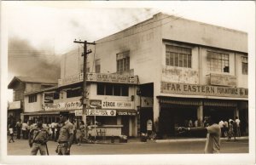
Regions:
[[[102,109],[133,109],[133,102],[102,100]]]

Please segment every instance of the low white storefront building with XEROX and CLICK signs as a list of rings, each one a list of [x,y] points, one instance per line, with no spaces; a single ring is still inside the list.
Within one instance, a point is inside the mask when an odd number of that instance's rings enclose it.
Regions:
[[[61,77],[57,87],[27,93],[24,115],[30,120],[43,117],[45,123],[50,123],[59,121],[60,111],[69,111],[71,121],[84,121],[86,117],[93,129],[91,135],[102,130],[106,136],[137,136],[137,77],[89,73],[87,82],[86,111],[82,105],[83,73],[78,73]],[[32,95],[39,98],[37,102],[29,101]]]

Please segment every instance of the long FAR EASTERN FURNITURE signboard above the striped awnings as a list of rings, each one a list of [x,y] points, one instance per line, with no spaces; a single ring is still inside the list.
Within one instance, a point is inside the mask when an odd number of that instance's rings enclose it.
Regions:
[[[160,92],[164,94],[189,94],[189,95],[248,98],[247,88],[228,88],[228,87],[194,85],[194,84],[185,84],[185,83],[161,82]]]

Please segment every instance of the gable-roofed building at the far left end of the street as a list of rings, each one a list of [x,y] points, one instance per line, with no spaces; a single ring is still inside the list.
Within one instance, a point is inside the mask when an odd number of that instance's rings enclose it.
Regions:
[[[8,117],[14,117],[15,121],[18,121],[19,119],[24,121],[24,116],[22,115],[25,109],[24,95],[26,95],[26,93],[31,93],[32,91],[38,91],[42,88],[49,88],[55,85],[57,85],[57,81],[42,77],[14,77],[8,85],[9,89],[13,89],[13,102],[9,102]],[[30,102],[35,102],[38,98],[31,96],[29,100]]]

